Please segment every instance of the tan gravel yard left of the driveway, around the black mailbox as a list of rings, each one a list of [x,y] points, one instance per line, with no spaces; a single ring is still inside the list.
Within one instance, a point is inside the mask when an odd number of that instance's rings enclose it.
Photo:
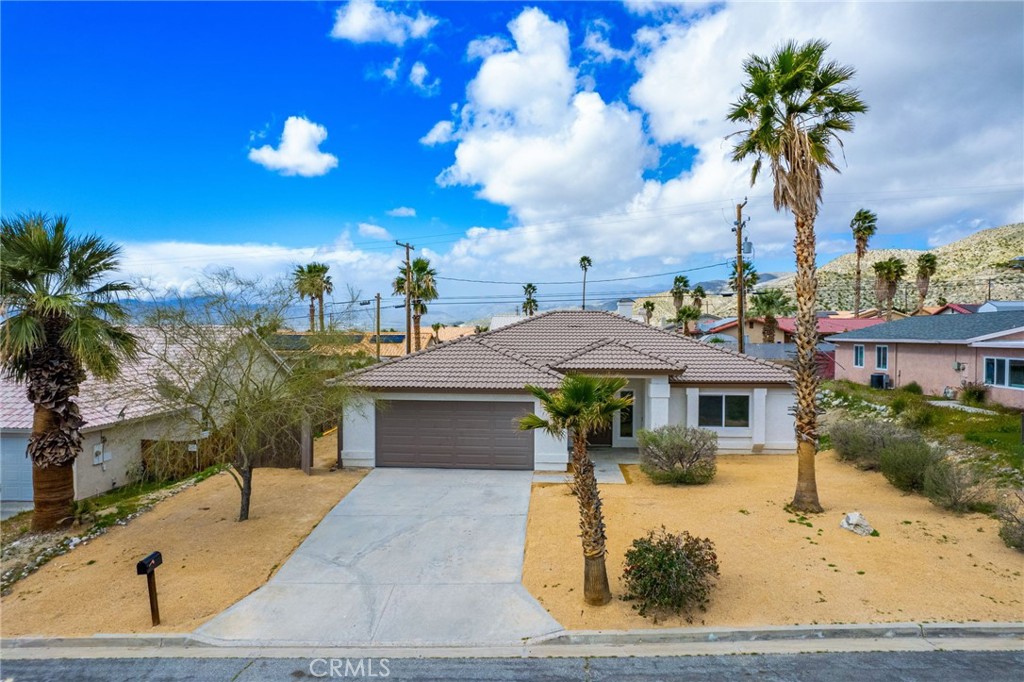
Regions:
[[[3,598],[2,635],[196,629],[263,585],[366,475],[366,469],[329,470],[335,443],[333,435],[316,441],[311,476],[257,469],[248,521],[236,521],[239,489],[221,473],[56,557]],[[164,555],[158,628],[150,623],[145,578],[135,574],[135,563],[154,550]]]

